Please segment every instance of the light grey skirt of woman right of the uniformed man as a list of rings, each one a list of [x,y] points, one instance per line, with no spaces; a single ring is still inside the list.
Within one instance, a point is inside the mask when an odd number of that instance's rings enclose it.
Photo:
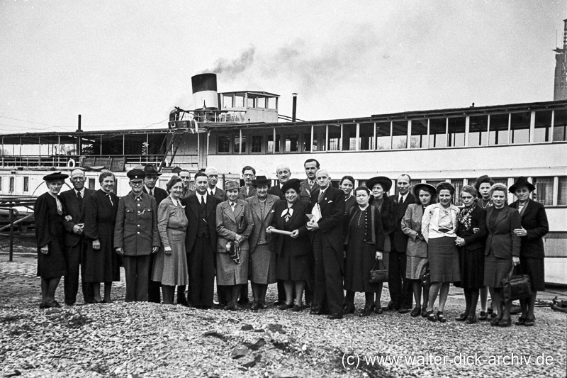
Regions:
[[[167,228],[167,239],[172,253],[166,255],[164,248],[159,248],[154,258],[152,281],[161,282],[166,286],[186,285],[189,283],[189,274],[185,252],[185,232]]]

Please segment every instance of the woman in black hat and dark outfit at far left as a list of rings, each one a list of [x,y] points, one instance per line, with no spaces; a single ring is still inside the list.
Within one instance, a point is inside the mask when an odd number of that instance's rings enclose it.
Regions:
[[[55,290],[61,277],[67,274],[64,257],[65,220],[59,192],[67,174],[55,172],[43,177],[47,193],[35,200],[35,239],[38,243],[38,277],[41,277],[40,308],[61,307],[55,301]]]

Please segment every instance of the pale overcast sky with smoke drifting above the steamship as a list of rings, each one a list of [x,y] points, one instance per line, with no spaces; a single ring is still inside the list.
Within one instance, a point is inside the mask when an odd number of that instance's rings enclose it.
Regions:
[[[304,120],[550,101],[563,18],[551,0],[0,0],[0,132],[167,127],[211,70],[283,115],[297,92]]]

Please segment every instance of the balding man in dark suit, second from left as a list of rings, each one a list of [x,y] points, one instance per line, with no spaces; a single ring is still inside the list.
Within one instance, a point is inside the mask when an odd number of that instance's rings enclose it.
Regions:
[[[84,253],[84,200],[93,191],[84,187],[86,177],[81,169],[74,169],[71,172],[71,183],[73,188],[60,194],[61,203],[65,213],[71,217],[69,221],[63,223],[65,228],[65,262],[67,262],[67,275],[64,277],[65,304],[72,305],[77,301],[77,291],[79,291],[79,265]],[[92,284],[82,282],[84,303],[89,304],[94,301]]]

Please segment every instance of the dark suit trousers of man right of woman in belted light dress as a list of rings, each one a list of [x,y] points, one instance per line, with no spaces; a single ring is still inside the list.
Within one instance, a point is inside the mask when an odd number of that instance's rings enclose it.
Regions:
[[[197,238],[191,252],[187,254],[189,271],[189,301],[193,306],[213,306],[215,282],[214,251],[209,238]]]

